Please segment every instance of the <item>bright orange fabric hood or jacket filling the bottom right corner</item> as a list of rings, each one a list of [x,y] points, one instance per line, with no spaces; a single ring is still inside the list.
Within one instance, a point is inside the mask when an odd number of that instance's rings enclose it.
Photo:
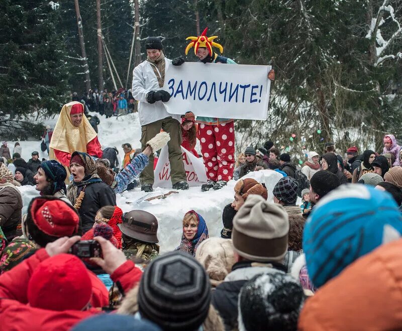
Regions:
[[[299,330],[402,327],[402,239],[359,258],[320,287],[300,312]]]

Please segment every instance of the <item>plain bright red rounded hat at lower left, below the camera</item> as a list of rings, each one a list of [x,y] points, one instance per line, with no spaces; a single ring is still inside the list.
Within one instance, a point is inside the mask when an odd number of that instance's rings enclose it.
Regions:
[[[92,283],[82,261],[58,254],[39,264],[28,283],[32,307],[48,310],[81,310],[89,302]]]

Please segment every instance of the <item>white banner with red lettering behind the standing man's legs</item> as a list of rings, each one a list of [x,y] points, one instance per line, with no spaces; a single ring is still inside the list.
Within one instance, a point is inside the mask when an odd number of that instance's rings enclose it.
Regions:
[[[202,157],[196,157],[193,153],[181,146],[185,176],[189,186],[201,186],[207,182],[207,174]],[[158,163],[154,170],[154,187],[171,188],[170,163],[167,145],[162,148]]]

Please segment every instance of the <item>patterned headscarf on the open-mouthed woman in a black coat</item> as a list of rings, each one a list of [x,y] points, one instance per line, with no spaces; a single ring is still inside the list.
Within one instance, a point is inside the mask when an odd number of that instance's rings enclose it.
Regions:
[[[96,174],[96,165],[92,157],[87,153],[82,153],[78,151],[73,152],[71,157],[73,157],[75,154],[78,154],[84,163],[85,177],[82,179],[81,182],[75,183],[73,181],[70,183],[67,198],[71,201],[73,206],[76,199],[78,198],[79,193],[81,191],[84,191],[87,185],[102,182],[102,180]]]

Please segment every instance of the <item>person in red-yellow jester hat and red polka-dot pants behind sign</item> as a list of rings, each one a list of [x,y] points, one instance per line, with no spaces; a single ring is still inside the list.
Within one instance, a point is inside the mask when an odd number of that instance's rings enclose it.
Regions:
[[[188,37],[191,40],[185,49],[185,54],[191,47],[194,47],[194,54],[203,63],[224,63],[236,64],[230,58],[218,55],[213,51],[213,47],[223,53],[222,45],[214,42],[217,36],[207,36],[208,27],[198,37]],[[182,58],[174,59],[173,65],[181,65]],[[274,78],[273,70],[268,76]],[[201,152],[204,158],[208,182],[201,187],[202,191],[210,189],[219,190],[233,178],[235,168],[235,130],[233,118],[217,118],[197,116],[198,124],[197,137],[200,141]]]

